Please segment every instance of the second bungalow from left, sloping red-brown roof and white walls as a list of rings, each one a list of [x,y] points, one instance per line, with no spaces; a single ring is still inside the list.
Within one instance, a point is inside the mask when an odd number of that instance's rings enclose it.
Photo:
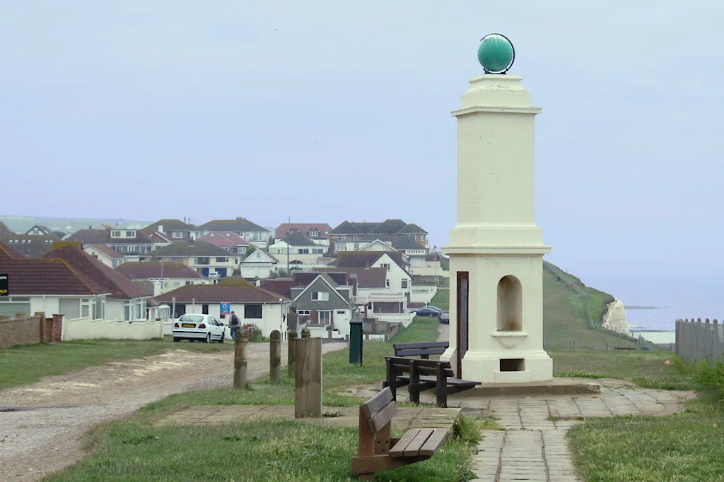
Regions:
[[[106,266],[100,259],[82,251],[80,246],[64,246],[54,249],[43,254],[43,259],[62,259],[77,272],[81,272],[85,277],[93,280],[94,285],[102,292],[109,293],[106,296],[105,304],[96,300],[103,306],[90,307],[89,299],[81,301],[80,306],[67,306],[66,311],[61,311],[66,317],[72,319],[92,315],[103,319],[124,321],[148,318],[147,303],[153,293],[149,293],[121,273]]]

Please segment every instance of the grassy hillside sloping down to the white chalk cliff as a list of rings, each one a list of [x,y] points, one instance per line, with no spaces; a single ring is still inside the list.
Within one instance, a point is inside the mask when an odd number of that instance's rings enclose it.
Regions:
[[[563,273],[558,283],[559,269],[547,263],[543,270],[543,333],[546,348],[610,348],[634,347],[636,341],[615,332],[601,328],[605,307],[613,296],[586,286],[578,277]],[[573,289],[571,289],[573,284]],[[578,290],[578,291],[576,291]],[[580,293],[586,293],[593,327],[589,322],[586,301]],[[430,304],[447,311],[449,309],[447,289],[439,289]]]

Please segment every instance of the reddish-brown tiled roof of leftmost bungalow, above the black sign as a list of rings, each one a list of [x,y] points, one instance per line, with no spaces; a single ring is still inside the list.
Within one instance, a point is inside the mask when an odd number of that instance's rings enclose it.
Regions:
[[[0,272],[8,274],[11,295],[92,296],[109,293],[62,259],[0,258]]]

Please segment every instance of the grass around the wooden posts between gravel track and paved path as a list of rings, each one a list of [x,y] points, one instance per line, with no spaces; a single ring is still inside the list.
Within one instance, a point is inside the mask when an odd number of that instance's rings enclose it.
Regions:
[[[437,338],[437,319],[418,317],[394,342]],[[365,342],[362,366],[349,363],[347,349],[324,355],[325,405],[358,405],[359,397],[336,395],[335,388],[377,383],[392,343]],[[261,380],[250,390],[202,390],[172,395],[146,405],[130,420],[101,426],[93,434],[95,452],[50,481],[347,481],[357,452],[356,428],[321,427],[297,421],[255,421],[226,426],[154,427],[153,421],[189,405],[294,404],[294,382]],[[402,405],[402,404],[400,404]],[[426,462],[378,473],[379,481],[469,480],[479,422],[463,419],[460,437]]]

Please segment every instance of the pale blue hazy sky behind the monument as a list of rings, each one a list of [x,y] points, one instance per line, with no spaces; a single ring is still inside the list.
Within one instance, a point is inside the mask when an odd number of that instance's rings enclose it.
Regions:
[[[614,291],[691,288],[724,274],[723,19],[719,1],[4,1],[0,213],[402,218],[446,244],[450,111],[500,32],[543,108],[547,259]]]

